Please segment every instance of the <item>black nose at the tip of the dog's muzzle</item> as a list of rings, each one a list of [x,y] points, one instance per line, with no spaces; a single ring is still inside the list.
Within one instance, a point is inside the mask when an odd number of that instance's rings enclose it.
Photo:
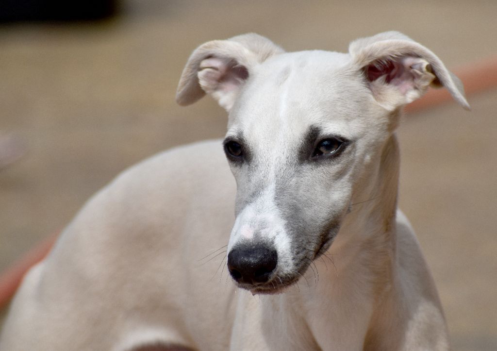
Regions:
[[[228,269],[233,279],[239,283],[265,283],[277,262],[276,250],[264,246],[235,248],[228,254]]]

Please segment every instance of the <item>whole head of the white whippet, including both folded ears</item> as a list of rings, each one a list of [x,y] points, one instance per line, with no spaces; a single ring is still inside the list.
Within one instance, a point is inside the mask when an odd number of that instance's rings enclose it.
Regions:
[[[284,53],[254,34],[193,53],[177,98],[207,92],[229,111],[223,145],[237,199],[228,268],[240,287],[279,292],[329,249],[400,108],[432,82],[460,94],[447,77],[436,56],[391,32],[349,54]]]

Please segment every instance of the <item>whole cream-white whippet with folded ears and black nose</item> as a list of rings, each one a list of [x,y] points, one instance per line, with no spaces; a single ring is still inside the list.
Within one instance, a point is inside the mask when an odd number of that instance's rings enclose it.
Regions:
[[[469,107],[398,32],[347,54],[256,34],[201,45],[177,101],[229,111],[224,153],[176,148],[90,199],[25,277],[1,350],[448,349],[397,209],[395,130],[429,85]]]

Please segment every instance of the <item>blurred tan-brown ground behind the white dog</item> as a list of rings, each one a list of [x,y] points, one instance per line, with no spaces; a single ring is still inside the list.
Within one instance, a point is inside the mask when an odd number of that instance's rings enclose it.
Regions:
[[[496,1],[161,1],[118,3],[98,22],[0,24],[0,134],[28,153],[0,170],[0,270],[59,231],[137,161],[222,137],[205,98],[176,83],[199,44],[254,31],[289,51],[346,51],[399,30],[451,68],[497,54]],[[405,118],[400,205],[438,285],[454,350],[497,350],[497,89]]]

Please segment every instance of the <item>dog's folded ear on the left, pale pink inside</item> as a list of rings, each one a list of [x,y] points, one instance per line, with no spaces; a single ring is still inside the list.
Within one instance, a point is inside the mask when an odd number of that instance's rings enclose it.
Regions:
[[[176,102],[189,105],[210,94],[227,111],[254,67],[283,49],[255,33],[200,45],[181,74]]]

